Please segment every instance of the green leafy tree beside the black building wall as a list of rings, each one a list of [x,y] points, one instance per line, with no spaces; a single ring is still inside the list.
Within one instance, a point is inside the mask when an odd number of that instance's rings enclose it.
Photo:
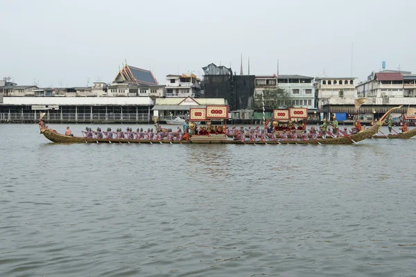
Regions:
[[[286,90],[280,88],[264,89],[263,96],[261,96],[261,93],[254,96],[254,109],[263,109],[263,98],[264,107],[267,110],[288,109],[294,105],[294,100],[291,100],[291,96]]]

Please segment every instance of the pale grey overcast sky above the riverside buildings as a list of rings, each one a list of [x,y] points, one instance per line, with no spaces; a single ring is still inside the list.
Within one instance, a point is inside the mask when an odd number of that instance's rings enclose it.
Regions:
[[[119,66],[169,73],[211,62],[251,74],[416,72],[416,1],[0,0],[0,76],[42,87],[111,82]],[[353,55],[352,55],[353,44]]]

